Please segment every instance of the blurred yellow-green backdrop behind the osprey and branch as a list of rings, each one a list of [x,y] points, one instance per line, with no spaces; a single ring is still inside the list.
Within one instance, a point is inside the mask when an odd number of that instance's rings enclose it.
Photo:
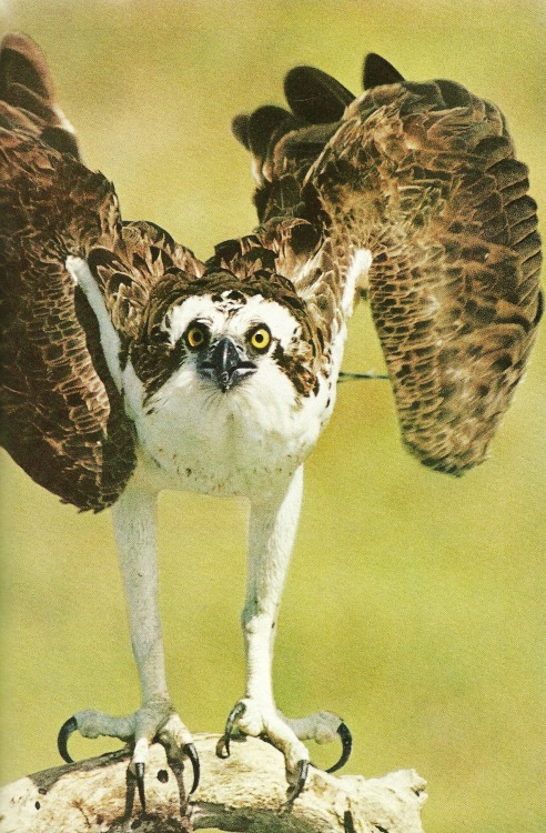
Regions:
[[[507,116],[545,204],[544,2],[6,1],[2,29],[46,50],[84,160],[123,215],[206,258],[255,223],[230,120],[282,102],[296,63],[361,90],[365,52],[406,77],[456,79]],[[544,228],[543,228],[544,231]],[[387,382],[343,385],[306,466],[275,655],[289,714],[330,709],[354,732],[350,772],[413,766],[427,833],[546,830],[546,333],[491,460],[462,480],[398,441]],[[381,368],[367,310],[346,368]],[[2,779],[59,762],[73,711],[136,707],[108,513],[79,515],[2,458]],[[172,696],[220,731],[244,684],[239,611],[246,506],[164,493],[161,606]],[[75,739],[75,756],[110,749]],[[313,750],[332,762],[337,749]]]

